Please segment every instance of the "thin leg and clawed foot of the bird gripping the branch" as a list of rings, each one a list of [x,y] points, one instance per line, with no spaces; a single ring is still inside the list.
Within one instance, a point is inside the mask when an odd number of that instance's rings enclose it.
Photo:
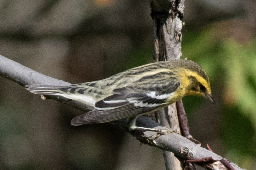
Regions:
[[[157,134],[150,137],[151,140],[155,140],[157,137],[159,137],[161,135],[164,135],[164,134],[169,134],[169,133],[172,133],[172,132],[176,133],[175,129],[153,129],[153,128],[147,128],[147,127],[138,127],[138,126],[136,126],[136,119],[139,116],[133,116],[133,117],[130,117],[128,119],[126,127],[129,130],[131,130],[131,131],[133,131],[133,130],[142,130],[143,131],[144,130],[144,131],[155,131],[155,132],[157,132]]]

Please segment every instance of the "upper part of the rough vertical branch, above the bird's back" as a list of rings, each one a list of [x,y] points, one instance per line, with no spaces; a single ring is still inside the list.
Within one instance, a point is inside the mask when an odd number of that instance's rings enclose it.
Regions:
[[[184,0],[151,0],[156,61],[181,57]]]

